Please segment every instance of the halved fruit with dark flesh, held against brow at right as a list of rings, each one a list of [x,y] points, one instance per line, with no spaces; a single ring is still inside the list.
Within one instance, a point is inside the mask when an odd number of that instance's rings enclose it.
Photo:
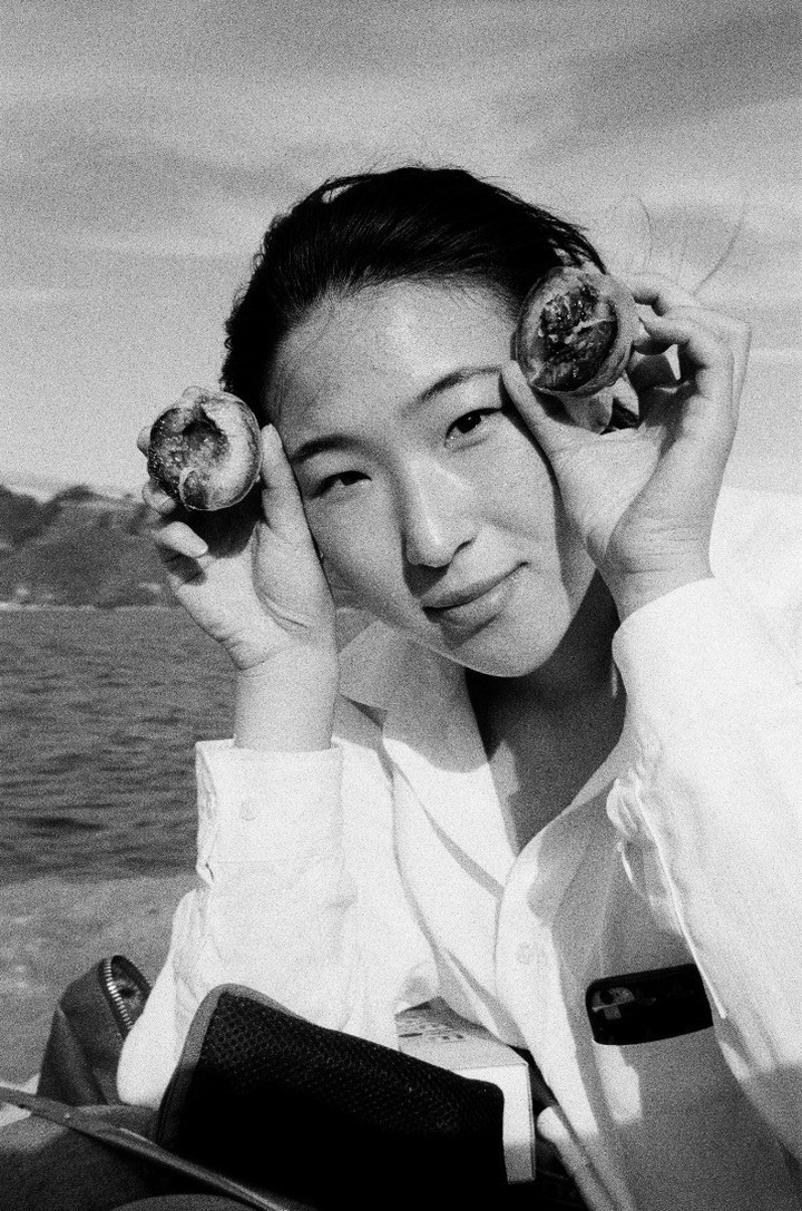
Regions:
[[[630,358],[640,317],[623,282],[561,265],[529,291],[515,329],[515,358],[529,386],[578,400],[612,386]]]

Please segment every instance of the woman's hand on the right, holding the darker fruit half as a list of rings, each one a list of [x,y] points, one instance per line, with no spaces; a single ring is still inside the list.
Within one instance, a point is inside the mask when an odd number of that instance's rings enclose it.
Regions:
[[[741,321],[699,306],[663,277],[628,285],[652,309],[641,310],[643,332],[628,367],[637,427],[589,432],[531,391],[515,362],[502,372],[621,620],[710,575],[710,532],[749,354]],[[665,357],[672,346],[678,375]]]

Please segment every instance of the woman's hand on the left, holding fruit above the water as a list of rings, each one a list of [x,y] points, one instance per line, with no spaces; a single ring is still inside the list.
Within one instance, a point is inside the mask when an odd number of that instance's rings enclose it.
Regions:
[[[137,441],[145,457],[149,437],[145,427]],[[259,489],[241,504],[191,512],[155,480],[142,495],[157,515],[151,534],[173,593],[240,672],[286,670],[293,656],[331,666],[334,604],[273,425],[262,430]]]

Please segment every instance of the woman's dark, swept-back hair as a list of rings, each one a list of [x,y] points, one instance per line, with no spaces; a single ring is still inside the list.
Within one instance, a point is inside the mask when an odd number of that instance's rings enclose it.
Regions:
[[[325,182],[268,228],[225,325],[220,381],[259,411],[283,337],[327,297],[391,282],[481,286],[517,314],[558,264],[603,268],[583,231],[462,168]]]

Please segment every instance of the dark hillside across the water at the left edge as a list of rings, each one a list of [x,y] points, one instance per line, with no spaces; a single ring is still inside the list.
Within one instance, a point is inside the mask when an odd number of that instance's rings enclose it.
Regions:
[[[0,603],[172,606],[145,512],[86,487],[40,501],[0,486]]]

